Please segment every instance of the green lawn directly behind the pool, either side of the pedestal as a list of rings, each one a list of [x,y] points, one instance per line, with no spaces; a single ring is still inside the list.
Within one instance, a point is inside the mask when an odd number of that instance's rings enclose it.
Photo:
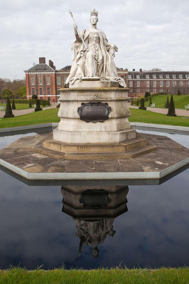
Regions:
[[[58,108],[46,109],[43,111],[38,111],[36,113],[29,113],[27,115],[20,115],[13,118],[2,118],[0,120],[0,128],[59,122],[60,119],[57,116],[58,110]],[[179,116],[169,117],[161,113],[143,111],[141,109],[130,109],[130,111],[130,122],[168,124],[189,127],[189,119],[187,118],[182,118]]]

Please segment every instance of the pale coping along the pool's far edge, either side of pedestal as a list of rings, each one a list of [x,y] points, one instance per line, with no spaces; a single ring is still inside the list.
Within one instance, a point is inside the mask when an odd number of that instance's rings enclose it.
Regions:
[[[153,124],[153,123],[141,123],[141,122],[130,122],[131,126],[136,127],[149,127],[156,129],[170,129],[170,130],[179,130],[179,131],[187,131],[189,132],[189,127],[187,126],[176,126],[176,125],[167,125],[167,124]],[[34,124],[34,125],[25,125],[25,126],[17,126],[17,127],[7,127],[0,128],[0,133],[3,132],[11,132],[11,131],[19,131],[19,130],[27,130],[27,129],[36,129],[36,128],[44,128],[44,127],[57,127],[58,123],[43,123],[43,124]]]

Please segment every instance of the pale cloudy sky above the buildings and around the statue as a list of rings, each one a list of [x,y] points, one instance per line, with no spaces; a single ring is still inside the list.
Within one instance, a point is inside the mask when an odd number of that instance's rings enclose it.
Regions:
[[[57,69],[71,65],[69,9],[81,30],[93,8],[97,27],[118,46],[116,66],[189,70],[188,0],[0,0],[0,78],[23,78],[39,57]]]

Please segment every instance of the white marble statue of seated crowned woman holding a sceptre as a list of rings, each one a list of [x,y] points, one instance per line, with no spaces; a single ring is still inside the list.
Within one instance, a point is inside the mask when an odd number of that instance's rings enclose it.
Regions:
[[[90,22],[91,28],[83,29],[78,34],[77,24],[74,21],[76,41],[72,45],[73,64],[65,85],[73,84],[75,80],[81,81],[88,78],[119,82],[120,86],[126,88],[125,81],[118,77],[113,60],[118,48],[115,44],[108,43],[104,31],[96,28],[98,12],[95,9],[91,12]]]

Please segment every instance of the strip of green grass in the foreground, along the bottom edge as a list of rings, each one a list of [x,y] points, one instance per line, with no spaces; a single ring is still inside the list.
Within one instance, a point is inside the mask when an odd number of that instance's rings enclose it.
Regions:
[[[97,269],[83,270],[34,270],[21,268],[0,271],[1,284],[187,284],[188,268],[147,269]]]

